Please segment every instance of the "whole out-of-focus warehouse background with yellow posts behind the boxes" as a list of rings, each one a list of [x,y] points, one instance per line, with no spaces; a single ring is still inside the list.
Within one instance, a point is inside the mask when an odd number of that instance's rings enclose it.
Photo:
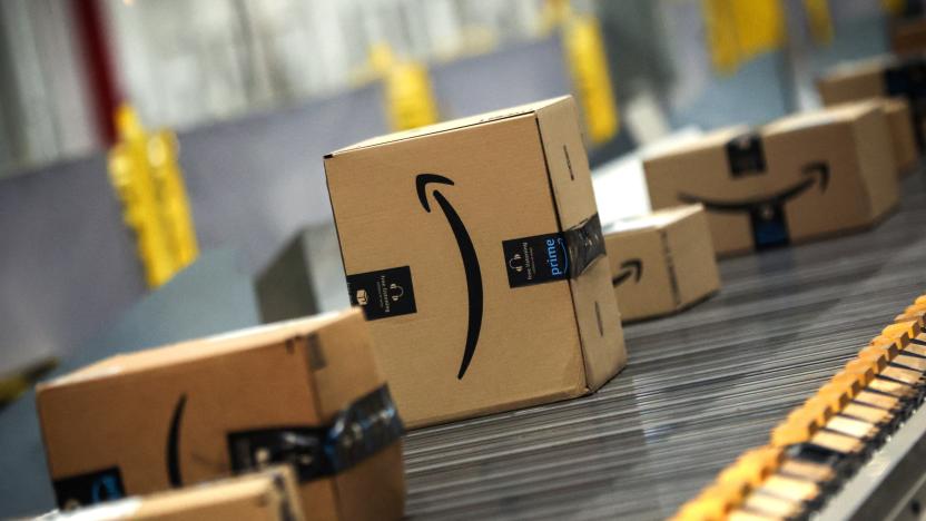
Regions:
[[[922,10],[3,0],[0,373],[346,304],[322,157],[393,130],[572,94],[602,215],[647,212],[637,150],[814,108]],[[301,271],[312,302],[266,301]]]

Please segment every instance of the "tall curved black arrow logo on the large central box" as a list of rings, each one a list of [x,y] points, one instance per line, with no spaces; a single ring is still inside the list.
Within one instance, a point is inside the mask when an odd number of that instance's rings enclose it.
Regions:
[[[442,185],[453,186],[453,180],[437,175],[437,174],[418,174],[415,177],[415,189],[418,194],[421,206],[428,214],[431,206],[427,204],[427,194],[425,187],[428,183],[439,183]],[[470,234],[466,227],[460,219],[460,215],[453,209],[450,201],[444,198],[443,194],[436,189],[432,191],[434,200],[444,210],[444,217],[450,224],[453,236],[456,239],[456,247],[460,248],[460,257],[463,259],[463,271],[466,274],[466,293],[470,299],[470,313],[466,325],[466,345],[463,350],[463,361],[460,363],[460,372],[456,374],[457,379],[462,379],[466,374],[466,367],[473,360],[473,354],[476,351],[476,343],[479,342],[479,333],[482,328],[482,272],[479,268],[479,258],[476,257],[476,249],[473,247],[473,242],[470,239]]]

